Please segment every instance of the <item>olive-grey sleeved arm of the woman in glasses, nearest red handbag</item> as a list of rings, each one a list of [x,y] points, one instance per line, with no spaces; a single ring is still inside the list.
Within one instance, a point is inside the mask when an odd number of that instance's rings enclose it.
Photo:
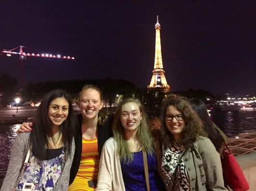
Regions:
[[[210,139],[199,140],[199,153],[202,157],[206,184],[211,191],[228,191],[224,187],[220,156]]]

